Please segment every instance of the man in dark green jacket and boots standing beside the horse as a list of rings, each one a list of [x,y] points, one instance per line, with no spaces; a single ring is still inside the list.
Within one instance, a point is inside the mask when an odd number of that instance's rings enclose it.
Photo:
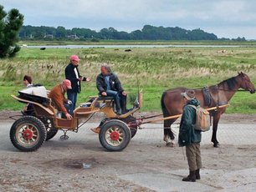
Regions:
[[[183,107],[182,120],[180,123],[178,144],[180,147],[186,146],[187,163],[189,174],[182,181],[195,182],[200,179],[199,171],[202,168],[200,142],[202,138],[201,131],[193,128],[196,123],[196,109],[190,105],[198,106],[200,102],[195,99],[195,91],[187,90],[182,93],[185,101]]]

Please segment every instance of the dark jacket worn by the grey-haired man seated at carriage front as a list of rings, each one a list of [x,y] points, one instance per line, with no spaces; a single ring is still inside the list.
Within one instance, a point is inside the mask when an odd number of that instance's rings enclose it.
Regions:
[[[100,73],[96,78],[96,86],[100,93],[105,92],[107,89],[107,85],[105,83],[105,76],[102,73]],[[121,86],[120,80],[115,73],[110,73],[110,89],[119,93],[124,91]]]

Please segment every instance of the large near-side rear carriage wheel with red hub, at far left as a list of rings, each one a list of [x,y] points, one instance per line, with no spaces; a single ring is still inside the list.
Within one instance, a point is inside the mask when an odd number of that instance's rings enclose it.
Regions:
[[[33,116],[23,116],[13,123],[10,139],[21,151],[34,151],[46,139],[46,129],[43,122]]]

